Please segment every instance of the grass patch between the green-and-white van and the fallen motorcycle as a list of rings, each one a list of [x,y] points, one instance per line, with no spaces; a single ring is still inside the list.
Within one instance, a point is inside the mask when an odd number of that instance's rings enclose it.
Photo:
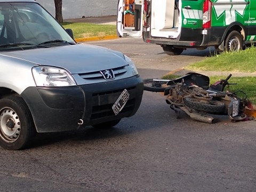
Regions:
[[[256,47],[252,46],[244,51],[223,52],[214,54],[212,57],[205,58],[188,65],[185,69],[194,71],[229,71],[255,73]]]

